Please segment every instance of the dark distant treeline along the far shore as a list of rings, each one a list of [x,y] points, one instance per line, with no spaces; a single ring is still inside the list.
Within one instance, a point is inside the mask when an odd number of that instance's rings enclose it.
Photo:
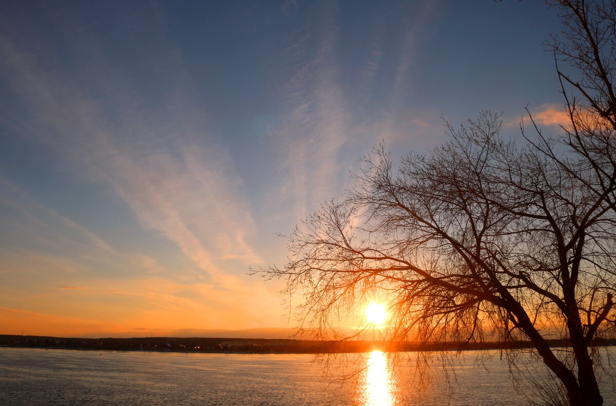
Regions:
[[[563,339],[548,340],[550,346],[563,347]],[[616,340],[599,340],[599,345],[614,346]],[[476,349],[513,349],[532,347],[530,341],[507,343],[391,343],[387,341],[315,341],[300,339],[264,338],[201,338],[201,337],[145,337],[145,338],[63,338],[47,336],[0,335],[0,346],[36,347],[116,351],[174,351],[174,352],[246,352],[264,354],[333,354],[370,352],[376,349],[394,351],[455,351]]]

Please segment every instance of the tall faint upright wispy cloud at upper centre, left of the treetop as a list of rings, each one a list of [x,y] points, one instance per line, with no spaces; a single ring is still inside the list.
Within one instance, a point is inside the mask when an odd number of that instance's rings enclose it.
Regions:
[[[285,174],[278,205],[296,208],[301,218],[339,192],[339,153],[347,140],[347,112],[336,63],[334,7],[321,10],[309,33],[299,35],[289,47],[295,52],[307,39],[314,50],[301,55],[304,62],[282,89],[288,110],[278,118],[274,138],[281,156],[280,173]],[[344,177],[347,174],[344,173]]]

